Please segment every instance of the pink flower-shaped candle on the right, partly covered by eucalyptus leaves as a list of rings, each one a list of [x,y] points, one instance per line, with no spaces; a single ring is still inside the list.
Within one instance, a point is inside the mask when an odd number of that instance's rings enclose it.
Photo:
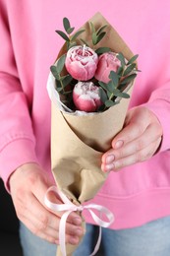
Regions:
[[[113,70],[116,72],[121,66],[121,62],[116,55],[117,54],[114,52],[105,52],[99,56],[95,79],[102,81],[103,83],[108,83],[110,81],[110,71]]]

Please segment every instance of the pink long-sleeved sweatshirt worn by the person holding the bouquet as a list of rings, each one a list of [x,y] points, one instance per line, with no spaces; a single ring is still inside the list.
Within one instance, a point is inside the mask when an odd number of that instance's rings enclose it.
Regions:
[[[78,29],[98,11],[140,54],[131,107],[144,104],[163,127],[159,153],[112,172],[92,200],[115,214],[112,228],[133,227],[170,215],[169,0],[0,0],[0,175],[6,183],[32,161],[51,175],[46,81],[63,44],[55,30],[63,17]]]

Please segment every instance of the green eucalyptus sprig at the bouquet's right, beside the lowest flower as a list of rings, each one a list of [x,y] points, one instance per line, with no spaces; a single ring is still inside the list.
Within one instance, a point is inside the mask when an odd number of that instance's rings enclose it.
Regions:
[[[119,101],[116,100],[117,97],[129,98],[130,96],[124,92],[127,85],[132,83],[137,77],[137,63],[136,60],[139,55],[134,55],[128,62],[126,61],[124,55],[119,53],[117,58],[121,61],[121,66],[115,71],[111,71],[109,75],[110,81],[108,83],[103,83],[101,81],[99,84],[99,95],[101,101],[104,104],[104,109],[109,108],[117,104]]]

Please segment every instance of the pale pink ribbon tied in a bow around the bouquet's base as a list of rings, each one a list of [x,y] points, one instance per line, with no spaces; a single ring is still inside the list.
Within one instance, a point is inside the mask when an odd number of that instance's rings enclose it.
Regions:
[[[47,198],[47,195],[51,191],[56,193],[57,195],[59,195],[60,198],[62,199],[62,201],[64,202],[64,204],[55,204],[55,203],[50,202]],[[55,212],[65,211],[65,213],[61,217],[61,221],[60,221],[60,224],[59,224],[59,241],[60,241],[60,247],[61,247],[61,252],[62,252],[63,256],[67,256],[67,254],[66,254],[66,235],[65,235],[67,218],[69,217],[69,215],[72,212],[77,212],[77,211],[78,212],[83,212],[84,210],[87,210],[90,213],[94,222],[99,225],[98,240],[97,240],[97,243],[95,245],[94,251],[89,256],[95,255],[95,253],[99,249],[99,245],[100,245],[100,242],[101,242],[101,226],[102,227],[108,227],[110,224],[112,224],[114,222],[114,215],[107,208],[105,208],[103,206],[100,206],[100,205],[96,205],[96,204],[88,204],[88,205],[85,205],[85,206],[83,206],[83,205],[79,205],[79,206],[74,205],[63,194],[62,191],[58,190],[58,188],[56,186],[51,186],[46,191],[44,203],[52,211],[55,211]],[[97,210],[100,217],[98,217],[92,210]],[[102,217],[103,214],[105,215],[105,217],[108,219],[109,222],[102,221],[101,217]]]

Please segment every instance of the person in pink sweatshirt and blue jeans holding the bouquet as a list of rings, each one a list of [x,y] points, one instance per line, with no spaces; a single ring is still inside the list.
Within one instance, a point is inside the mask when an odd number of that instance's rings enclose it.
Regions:
[[[52,256],[58,244],[61,216],[43,200],[54,184],[46,81],[63,44],[55,30],[62,30],[63,17],[80,28],[99,11],[140,54],[142,70],[124,129],[101,160],[102,170],[112,172],[92,202],[112,211],[115,222],[103,230],[99,253],[169,255],[170,2],[0,0],[0,10],[0,170],[22,223],[24,254]],[[89,216],[85,220],[85,240],[75,255],[92,251],[96,227]],[[67,242],[77,244],[82,233],[74,213]]]

